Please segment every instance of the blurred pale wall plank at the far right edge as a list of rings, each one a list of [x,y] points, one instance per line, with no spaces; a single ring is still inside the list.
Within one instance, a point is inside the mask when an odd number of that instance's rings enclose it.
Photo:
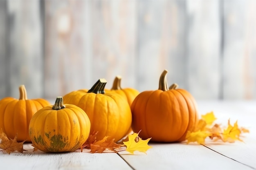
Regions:
[[[254,1],[224,2],[225,99],[255,98],[255,7]]]

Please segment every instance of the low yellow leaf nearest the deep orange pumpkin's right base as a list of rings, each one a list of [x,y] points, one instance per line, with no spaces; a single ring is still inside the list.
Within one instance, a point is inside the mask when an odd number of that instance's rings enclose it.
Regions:
[[[204,145],[205,138],[210,136],[211,134],[207,133],[206,131],[196,131],[190,132],[188,131],[186,134],[187,144],[190,142],[197,142],[198,144]]]

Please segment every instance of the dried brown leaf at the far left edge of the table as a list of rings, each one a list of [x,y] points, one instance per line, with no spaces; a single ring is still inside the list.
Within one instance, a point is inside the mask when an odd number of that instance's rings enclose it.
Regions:
[[[17,142],[17,135],[14,137],[14,139],[9,139],[4,132],[0,133],[0,148],[2,149],[0,151],[4,153],[10,154],[16,150],[23,153],[23,151],[25,151],[23,149],[24,142],[25,141]]]

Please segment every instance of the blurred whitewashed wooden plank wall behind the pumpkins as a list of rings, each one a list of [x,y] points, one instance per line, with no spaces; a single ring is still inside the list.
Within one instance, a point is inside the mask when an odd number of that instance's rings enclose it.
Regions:
[[[256,99],[255,0],[1,0],[0,98],[57,96],[116,75],[196,99]]]

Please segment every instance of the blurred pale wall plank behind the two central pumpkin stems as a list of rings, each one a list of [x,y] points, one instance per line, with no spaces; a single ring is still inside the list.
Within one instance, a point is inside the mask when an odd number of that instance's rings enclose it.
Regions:
[[[135,88],[137,65],[136,1],[92,1],[91,3],[91,86],[99,79],[112,87],[122,76],[122,87]],[[90,87],[88,87],[90,88]]]

